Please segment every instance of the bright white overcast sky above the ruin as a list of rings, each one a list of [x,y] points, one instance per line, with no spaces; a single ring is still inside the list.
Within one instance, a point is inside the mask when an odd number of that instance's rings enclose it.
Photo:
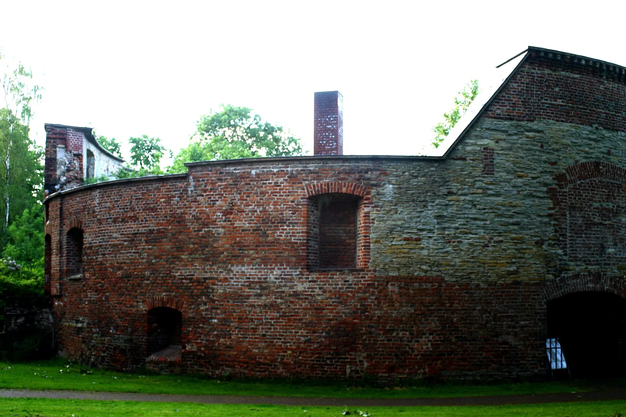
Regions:
[[[247,106],[312,154],[313,93],[344,96],[345,154],[416,154],[472,78],[528,45],[626,65],[626,1],[0,0],[0,48],[43,85],[44,123],[177,151],[202,114]]]

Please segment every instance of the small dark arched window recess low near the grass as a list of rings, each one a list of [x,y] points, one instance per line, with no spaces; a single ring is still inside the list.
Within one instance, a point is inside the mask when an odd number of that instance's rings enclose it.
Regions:
[[[182,314],[177,309],[155,307],[148,311],[148,356],[168,346],[181,346]]]

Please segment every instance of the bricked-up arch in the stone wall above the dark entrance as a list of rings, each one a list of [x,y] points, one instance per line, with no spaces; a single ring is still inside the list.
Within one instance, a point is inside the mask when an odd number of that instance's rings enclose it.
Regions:
[[[548,188],[557,244],[568,262],[626,263],[626,169],[590,161],[555,175]]]

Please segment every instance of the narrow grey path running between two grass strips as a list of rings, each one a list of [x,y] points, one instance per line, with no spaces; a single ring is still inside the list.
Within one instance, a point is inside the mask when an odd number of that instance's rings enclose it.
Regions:
[[[277,404],[292,406],[465,406],[565,403],[571,401],[626,400],[626,390],[588,393],[555,393],[534,395],[499,395],[448,398],[298,398],[247,395],[172,395],[110,393],[97,391],[37,391],[34,389],[0,389],[1,398],[100,399],[103,401],[156,401],[204,404]]]

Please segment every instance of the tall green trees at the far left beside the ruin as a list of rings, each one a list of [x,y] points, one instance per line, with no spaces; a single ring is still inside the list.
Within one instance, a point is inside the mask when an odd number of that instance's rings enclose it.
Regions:
[[[0,56],[3,61],[4,56]],[[3,61],[4,64],[4,61]],[[0,74],[0,296],[43,293],[43,149],[29,138],[31,103],[41,88],[22,64]]]

